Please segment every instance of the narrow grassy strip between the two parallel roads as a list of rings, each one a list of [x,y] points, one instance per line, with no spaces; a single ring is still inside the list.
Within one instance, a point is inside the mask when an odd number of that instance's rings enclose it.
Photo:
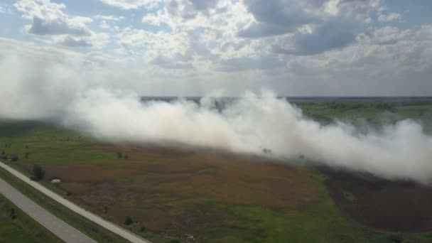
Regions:
[[[22,180],[19,180],[9,172],[5,171],[3,168],[0,168],[0,177],[6,180],[7,183],[11,184],[13,188],[19,190],[28,198],[38,203],[38,205],[41,205],[43,208],[45,208],[45,210],[53,213],[53,215],[67,222],[72,227],[75,227],[81,232],[87,234],[97,242],[127,242],[126,239],[117,236],[117,234],[109,232],[107,229],[96,225],[90,220],[85,219],[85,217],[77,215],[67,207],[60,205],[60,203],[55,202],[55,200],[46,197],[36,189],[32,188],[30,185],[24,183]]]

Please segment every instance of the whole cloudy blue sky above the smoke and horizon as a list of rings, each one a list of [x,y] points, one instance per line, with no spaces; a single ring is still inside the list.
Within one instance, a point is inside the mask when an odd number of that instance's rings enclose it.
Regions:
[[[431,12],[430,0],[0,0],[12,63],[0,81],[38,69],[149,96],[430,96]]]

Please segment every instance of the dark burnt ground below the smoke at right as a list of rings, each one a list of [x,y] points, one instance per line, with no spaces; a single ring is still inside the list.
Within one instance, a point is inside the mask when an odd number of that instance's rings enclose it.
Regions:
[[[362,225],[390,232],[432,229],[432,187],[320,168],[335,205]]]

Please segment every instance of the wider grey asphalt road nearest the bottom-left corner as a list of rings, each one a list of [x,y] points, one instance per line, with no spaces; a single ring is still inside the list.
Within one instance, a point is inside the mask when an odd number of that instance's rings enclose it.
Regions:
[[[0,193],[11,200],[11,202],[13,202],[13,204],[15,204],[21,210],[26,212],[26,214],[32,217],[33,220],[36,220],[41,225],[43,225],[43,227],[50,230],[50,232],[53,232],[53,234],[57,235],[60,239],[63,239],[63,241],[71,243],[95,243],[95,240],[87,237],[85,234],[82,234],[82,232],[66,224],[58,217],[55,217],[47,210],[28,199],[25,195],[18,192],[18,190],[13,188],[1,178]]]

